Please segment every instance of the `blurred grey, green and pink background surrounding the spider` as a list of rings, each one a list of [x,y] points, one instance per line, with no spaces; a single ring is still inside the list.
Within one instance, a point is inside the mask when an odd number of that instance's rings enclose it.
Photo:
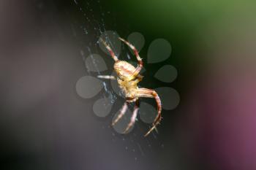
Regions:
[[[1,169],[256,169],[255,5],[1,0]],[[143,34],[145,60],[154,39],[172,47],[167,60],[145,63],[140,85],[174,88],[180,101],[146,138],[150,124],[140,120],[127,135],[110,127],[123,98],[97,117],[93,105],[104,92],[85,99],[75,89],[80,77],[94,76],[83,55],[105,56],[97,39],[108,30]],[[178,72],[172,83],[153,79],[166,64]]]

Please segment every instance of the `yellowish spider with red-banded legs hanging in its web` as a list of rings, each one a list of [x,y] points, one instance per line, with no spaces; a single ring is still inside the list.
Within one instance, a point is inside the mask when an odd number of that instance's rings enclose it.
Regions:
[[[132,112],[131,120],[127,125],[127,128],[124,130],[124,134],[126,134],[127,131],[129,131],[129,128],[134,125],[136,117],[138,115],[139,98],[155,98],[155,100],[157,101],[157,117],[154,119],[152,128],[144,135],[148,136],[148,134],[150,134],[151,131],[156,128],[156,126],[160,123],[160,120],[162,119],[161,100],[155,90],[148,88],[138,88],[138,82],[143,79],[143,76],[140,75],[140,70],[143,68],[143,61],[140,58],[138,50],[133,45],[120,37],[119,39],[121,40],[121,42],[124,42],[128,47],[130,47],[133,53],[135,53],[135,56],[138,60],[138,66],[137,68],[135,68],[135,66],[132,66],[132,64],[128,63],[127,61],[119,61],[113,50],[107,44],[107,42],[105,42],[101,38],[99,39],[99,41],[102,42],[103,45],[105,45],[108,53],[110,53],[111,57],[115,61],[113,68],[116,71],[117,77],[109,75],[99,75],[98,77],[102,79],[117,80],[119,88],[121,88],[121,91],[124,93],[124,96],[126,98],[126,101],[124,102],[124,105],[120,110],[120,114],[116,117],[115,120],[113,120],[112,125],[118,123],[118,120],[120,120],[121,117],[124,116],[125,112],[127,111],[128,104],[135,102],[135,108]]]

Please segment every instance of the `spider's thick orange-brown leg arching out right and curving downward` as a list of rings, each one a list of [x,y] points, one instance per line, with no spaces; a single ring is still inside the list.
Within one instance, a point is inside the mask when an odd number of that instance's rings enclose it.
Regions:
[[[151,90],[148,88],[138,88],[137,90],[138,93],[138,97],[146,97],[146,98],[155,98],[156,102],[157,102],[157,117],[154,119],[153,122],[153,126],[152,128],[145,134],[145,136],[148,136],[148,134],[151,133],[151,131],[154,130],[154,128],[157,127],[157,125],[160,123],[162,116],[161,116],[161,112],[162,112],[162,104],[161,104],[161,100],[157,94],[157,92],[155,90]]]

